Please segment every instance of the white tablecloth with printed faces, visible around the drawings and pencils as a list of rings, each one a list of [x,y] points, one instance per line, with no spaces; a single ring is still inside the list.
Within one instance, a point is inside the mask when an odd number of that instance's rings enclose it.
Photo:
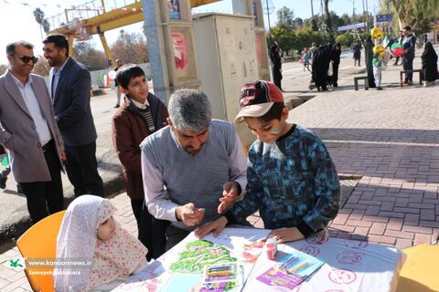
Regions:
[[[259,242],[270,230],[257,228],[226,228],[218,236],[207,235],[204,239],[209,242],[226,246],[230,255],[240,258],[244,242]],[[190,291],[199,287],[202,275],[195,272],[182,274],[170,272],[170,266],[177,263],[181,252],[187,250],[187,244],[198,238],[191,233],[185,240],[150,264],[141,273],[129,278],[123,285],[115,288],[114,292],[145,291],[145,287],[155,291]],[[308,277],[299,287],[288,290],[285,287],[267,286],[256,279],[271,266],[276,265],[283,256],[293,249],[314,255],[325,262],[314,275]],[[238,252],[239,250],[239,252]],[[255,263],[245,264],[244,287],[233,291],[253,292],[263,291],[299,291],[300,292],[342,292],[342,291],[394,291],[398,275],[402,268],[403,254],[396,248],[386,245],[371,245],[367,242],[329,238],[327,233],[321,233],[305,240],[278,245],[278,255],[275,260],[269,260],[263,249]],[[216,250],[217,252],[217,250]],[[210,252],[212,254],[213,252]],[[222,256],[222,255],[221,255]],[[247,260],[247,258],[245,259]],[[175,266],[174,266],[175,267]],[[199,271],[198,271],[199,272]],[[198,289],[196,289],[198,291]]]

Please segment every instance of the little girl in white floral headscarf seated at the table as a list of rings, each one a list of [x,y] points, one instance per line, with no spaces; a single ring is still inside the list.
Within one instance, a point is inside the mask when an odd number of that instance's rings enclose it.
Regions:
[[[115,210],[94,195],[70,203],[57,240],[56,291],[111,290],[147,265],[148,250],[114,221]]]

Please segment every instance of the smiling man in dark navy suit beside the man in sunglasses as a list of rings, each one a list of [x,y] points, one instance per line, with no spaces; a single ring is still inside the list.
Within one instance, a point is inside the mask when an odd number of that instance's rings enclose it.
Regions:
[[[59,130],[64,139],[66,170],[75,195],[103,196],[102,178],[96,161],[96,128],[90,107],[90,73],[69,57],[65,36],[50,35],[43,41],[50,70],[50,89]]]

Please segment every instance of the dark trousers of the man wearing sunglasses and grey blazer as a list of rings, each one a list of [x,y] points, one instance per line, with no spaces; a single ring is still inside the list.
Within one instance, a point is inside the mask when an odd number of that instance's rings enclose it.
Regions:
[[[48,145],[50,143],[50,145]],[[52,180],[50,182],[20,183],[27,199],[27,210],[30,219],[36,224],[39,220],[64,209],[64,196],[62,193],[61,167],[59,154],[55,142],[49,141],[45,145],[44,158],[48,163],[48,171]]]

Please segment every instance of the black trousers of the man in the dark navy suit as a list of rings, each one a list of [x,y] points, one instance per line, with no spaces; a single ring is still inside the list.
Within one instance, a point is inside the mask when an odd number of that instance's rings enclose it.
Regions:
[[[86,193],[103,196],[103,183],[96,161],[96,141],[83,146],[66,145],[65,148],[66,171],[75,196]]]

